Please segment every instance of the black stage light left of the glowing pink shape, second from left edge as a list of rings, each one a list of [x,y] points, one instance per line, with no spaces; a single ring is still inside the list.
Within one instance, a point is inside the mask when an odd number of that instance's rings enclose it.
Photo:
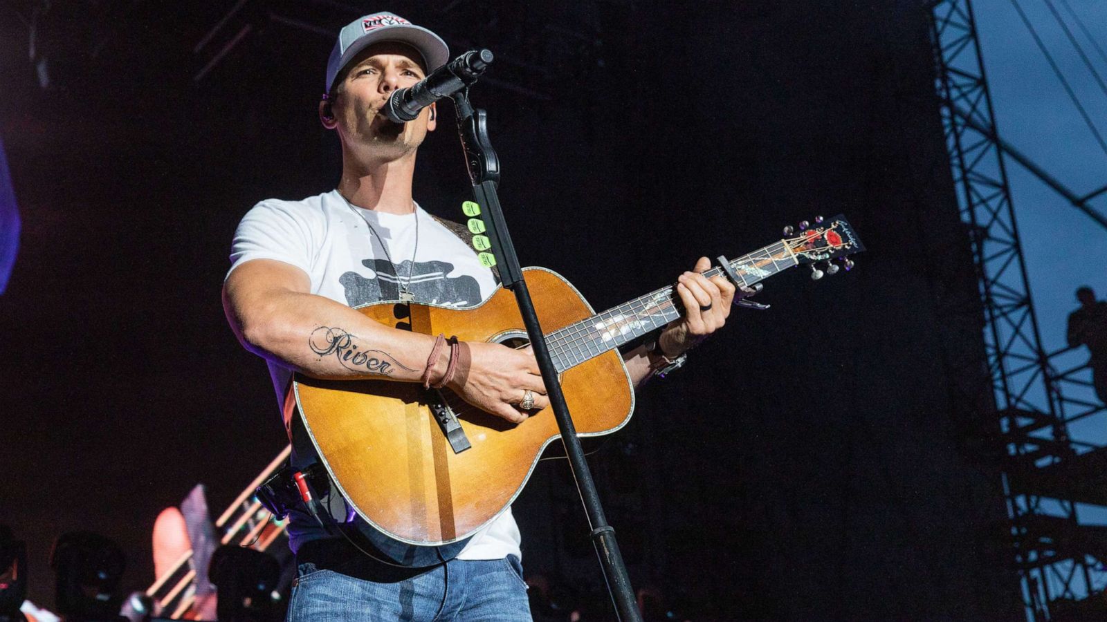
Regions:
[[[50,567],[56,577],[54,604],[66,620],[118,620],[116,593],[126,569],[123,549],[91,531],[72,531],[54,541]]]

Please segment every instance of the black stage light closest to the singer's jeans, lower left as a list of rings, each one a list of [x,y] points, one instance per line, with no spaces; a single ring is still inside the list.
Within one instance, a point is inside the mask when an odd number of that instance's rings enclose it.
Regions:
[[[272,556],[242,547],[219,547],[211,556],[208,578],[217,590],[219,622],[280,619],[276,595],[280,563]]]

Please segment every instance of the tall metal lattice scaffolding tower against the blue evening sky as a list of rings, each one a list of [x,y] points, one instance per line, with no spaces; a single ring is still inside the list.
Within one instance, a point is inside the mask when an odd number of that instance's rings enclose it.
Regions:
[[[937,0],[930,9],[950,164],[984,309],[995,429],[1004,456],[1010,519],[1005,543],[1022,579],[1028,620],[1104,616],[1107,528],[1082,525],[1077,504],[1107,506],[1107,478],[1100,475],[1107,470],[1107,449],[1072,438],[1069,424],[1105,408],[1095,398],[1066,397],[1064,391],[1072,392],[1074,385],[1090,384],[1077,377],[1087,366],[1067,364],[1057,372],[1058,357],[1070,356],[1070,349],[1051,355],[1042,345],[1004,156],[1023,166],[1028,159],[1012,154],[999,137],[972,3]],[[1041,168],[1042,174],[1027,169],[1052,182]],[[1077,198],[1082,200],[1069,203],[1083,209],[1086,205],[1077,204],[1092,196]],[[1083,393],[1088,393],[1087,386]]]

